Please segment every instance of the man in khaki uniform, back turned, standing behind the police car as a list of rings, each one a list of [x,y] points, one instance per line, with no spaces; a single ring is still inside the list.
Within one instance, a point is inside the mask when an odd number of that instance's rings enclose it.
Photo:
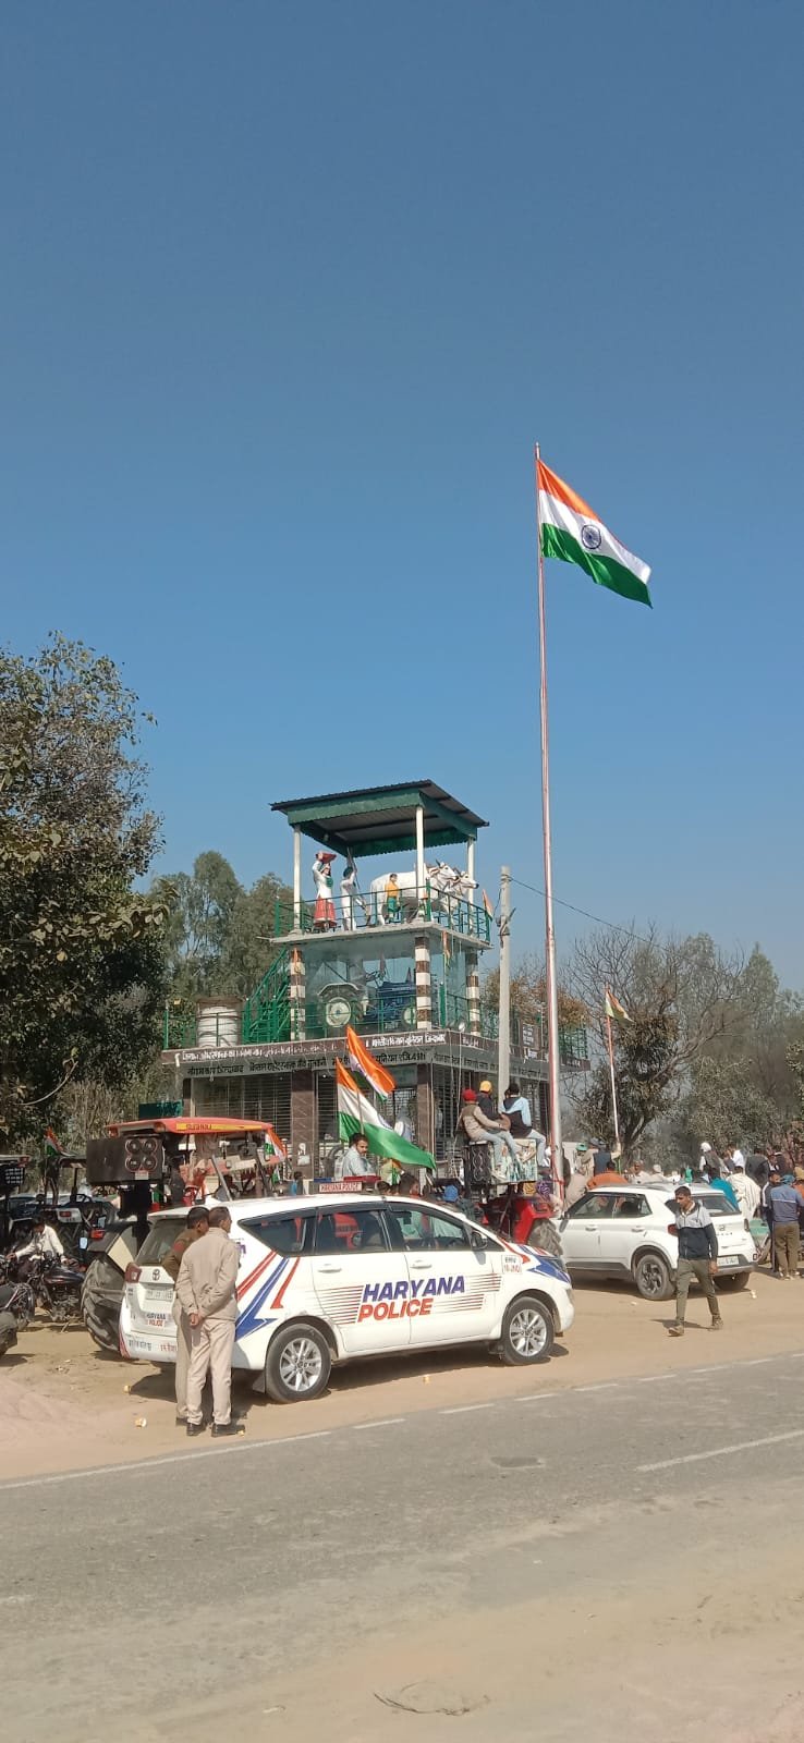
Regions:
[[[187,1433],[201,1434],[201,1393],[213,1377],[213,1434],[237,1434],[232,1422],[232,1349],[237,1321],[239,1251],[228,1239],[232,1218],[225,1204],[209,1211],[209,1234],[188,1246],[176,1295],[190,1319],[190,1372],[187,1375]]]

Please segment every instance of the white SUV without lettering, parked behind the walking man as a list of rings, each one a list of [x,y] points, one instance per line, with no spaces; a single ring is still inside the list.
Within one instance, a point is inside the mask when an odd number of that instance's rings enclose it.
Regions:
[[[692,1196],[715,1224],[719,1281],[745,1288],[759,1255],[743,1213],[710,1187],[694,1185]],[[647,1300],[668,1300],[678,1262],[673,1215],[668,1182],[593,1187],[562,1217],[565,1265],[574,1278],[630,1278]]]

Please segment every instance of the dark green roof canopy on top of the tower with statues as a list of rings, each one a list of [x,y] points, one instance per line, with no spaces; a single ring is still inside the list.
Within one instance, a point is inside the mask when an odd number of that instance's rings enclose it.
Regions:
[[[283,798],[272,805],[291,828],[302,830],[319,847],[352,854],[415,851],[415,814],[424,807],[426,847],[474,842],[488,824],[445,793],[434,781],[399,781],[394,786],[365,786],[352,793],[319,793],[314,798]]]

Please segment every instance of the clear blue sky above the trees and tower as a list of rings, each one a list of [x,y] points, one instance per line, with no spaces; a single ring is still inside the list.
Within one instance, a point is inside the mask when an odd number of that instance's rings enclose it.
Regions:
[[[539,437],[656,607],[548,565],[556,894],[804,983],[802,51],[795,0],[9,0],[3,638],[124,664],[166,866],[429,776],[541,885]]]

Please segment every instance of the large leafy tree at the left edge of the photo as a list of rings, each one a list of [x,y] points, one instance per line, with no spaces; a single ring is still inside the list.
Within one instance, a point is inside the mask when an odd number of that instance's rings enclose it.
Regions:
[[[52,636],[0,652],[0,1142],[23,1145],[73,1079],[153,1053],[167,891],[143,894],[159,823],[115,664]]]

